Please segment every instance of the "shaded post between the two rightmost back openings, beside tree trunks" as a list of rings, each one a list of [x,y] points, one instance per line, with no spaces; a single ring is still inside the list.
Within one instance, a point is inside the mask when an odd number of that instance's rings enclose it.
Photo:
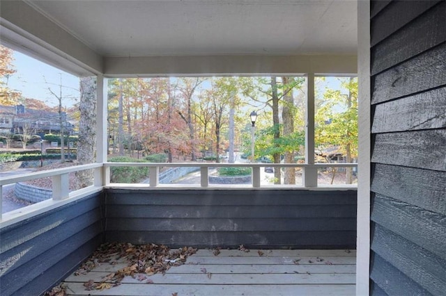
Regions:
[[[305,130],[305,160],[309,166],[303,170],[303,182],[305,187],[318,186],[318,170],[314,165],[314,73],[307,74],[307,123]]]

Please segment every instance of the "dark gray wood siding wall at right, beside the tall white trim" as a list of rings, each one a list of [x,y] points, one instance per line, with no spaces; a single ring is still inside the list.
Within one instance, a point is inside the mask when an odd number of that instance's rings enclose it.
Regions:
[[[371,294],[445,295],[446,1],[371,1]]]

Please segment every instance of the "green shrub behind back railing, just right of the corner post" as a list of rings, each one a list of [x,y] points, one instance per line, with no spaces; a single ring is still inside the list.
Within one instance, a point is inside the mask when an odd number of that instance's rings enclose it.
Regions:
[[[111,163],[147,163],[128,156],[109,158]],[[110,167],[110,182],[112,183],[139,183],[148,176],[148,167]]]

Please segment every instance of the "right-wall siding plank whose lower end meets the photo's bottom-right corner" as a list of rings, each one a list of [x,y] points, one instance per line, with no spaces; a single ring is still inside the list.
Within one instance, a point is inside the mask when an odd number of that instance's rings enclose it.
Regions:
[[[374,224],[371,249],[433,295],[446,291],[446,260]],[[446,255],[445,255],[446,256]]]

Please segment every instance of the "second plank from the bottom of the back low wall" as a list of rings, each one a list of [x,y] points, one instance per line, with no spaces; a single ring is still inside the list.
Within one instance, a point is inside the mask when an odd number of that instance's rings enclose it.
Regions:
[[[178,208],[180,211],[180,208]],[[355,231],[355,218],[110,218],[107,231]]]

